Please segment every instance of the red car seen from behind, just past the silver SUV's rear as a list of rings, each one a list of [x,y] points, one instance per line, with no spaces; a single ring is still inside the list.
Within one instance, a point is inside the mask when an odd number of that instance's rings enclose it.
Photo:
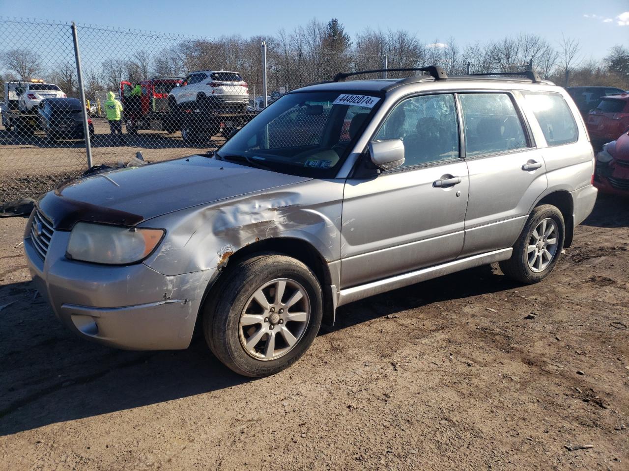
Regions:
[[[586,126],[595,149],[617,139],[629,127],[629,94],[603,97],[587,115]]]

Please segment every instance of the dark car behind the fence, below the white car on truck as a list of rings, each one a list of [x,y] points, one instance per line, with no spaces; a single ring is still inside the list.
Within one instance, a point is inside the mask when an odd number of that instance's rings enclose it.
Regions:
[[[81,100],[76,98],[47,98],[37,107],[38,127],[50,141],[85,139]],[[87,119],[89,135],[94,139],[94,124]]]

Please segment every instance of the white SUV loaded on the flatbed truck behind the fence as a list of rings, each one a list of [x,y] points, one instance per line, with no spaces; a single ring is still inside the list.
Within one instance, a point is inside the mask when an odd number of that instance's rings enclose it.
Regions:
[[[228,70],[199,70],[184,78],[181,85],[170,90],[170,109],[182,104],[234,106],[243,109],[249,103],[249,90],[240,73]]]

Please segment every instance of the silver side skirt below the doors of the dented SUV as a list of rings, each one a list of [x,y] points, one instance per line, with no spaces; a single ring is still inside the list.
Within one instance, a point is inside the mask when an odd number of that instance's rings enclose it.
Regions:
[[[409,284],[420,283],[420,281],[426,281],[426,279],[438,278],[439,276],[454,273],[455,271],[487,265],[501,260],[508,260],[511,258],[512,252],[513,248],[509,247],[508,249],[486,252],[484,254],[478,254],[448,263],[443,263],[441,265],[435,265],[411,271],[409,273],[391,276],[391,278],[379,279],[378,281],[372,281],[371,283],[346,288],[338,293],[337,307],[352,303],[353,301],[362,300],[363,298],[369,298],[369,296],[379,295],[380,293],[385,293],[386,291],[403,288]]]

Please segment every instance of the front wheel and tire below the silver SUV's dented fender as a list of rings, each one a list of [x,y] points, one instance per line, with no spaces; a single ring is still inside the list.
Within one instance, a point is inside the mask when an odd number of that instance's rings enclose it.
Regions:
[[[303,263],[283,255],[238,262],[203,308],[213,354],[243,376],[276,374],[315,340],[323,317],[321,286]]]

